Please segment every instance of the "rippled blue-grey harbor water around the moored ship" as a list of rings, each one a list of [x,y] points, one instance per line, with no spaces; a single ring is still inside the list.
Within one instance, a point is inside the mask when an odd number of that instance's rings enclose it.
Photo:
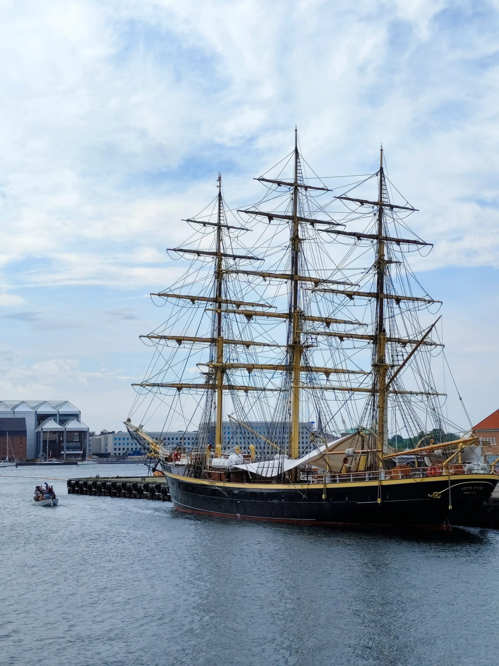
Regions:
[[[69,477],[145,473],[0,468],[3,665],[496,661],[498,531],[271,525],[67,494]],[[32,502],[45,480],[57,507]]]

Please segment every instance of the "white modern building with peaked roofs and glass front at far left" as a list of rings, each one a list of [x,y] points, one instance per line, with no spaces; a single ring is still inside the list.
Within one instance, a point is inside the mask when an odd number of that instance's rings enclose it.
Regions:
[[[26,458],[83,458],[88,427],[68,400],[0,400],[0,418],[26,422]]]

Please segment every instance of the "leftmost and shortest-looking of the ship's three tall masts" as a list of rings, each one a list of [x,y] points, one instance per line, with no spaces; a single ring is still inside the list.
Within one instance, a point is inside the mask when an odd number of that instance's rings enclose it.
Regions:
[[[216,425],[215,450],[222,447],[222,407],[224,396],[224,338],[222,336],[222,283],[224,272],[222,266],[222,175],[218,174],[218,212],[216,227]]]

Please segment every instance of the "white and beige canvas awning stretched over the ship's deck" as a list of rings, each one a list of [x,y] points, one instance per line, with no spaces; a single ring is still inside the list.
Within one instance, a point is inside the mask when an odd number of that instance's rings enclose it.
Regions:
[[[351,435],[345,435],[345,437],[341,437],[334,442],[323,444],[306,456],[296,458],[295,460],[291,460],[291,458],[286,458],[285,456],[275,456],[275,458],[272,458],[271,460],[250,462],[246,465],[235,465],[234,468],[237,470],[245,470],[250,474],[265,476],[266,478],[277,476],[277,474],[281,474],[282,472],[289,472],[289,470],[293,470],[300,465],[318,463],[319,467],[325,468],[325,458],[327,454],[331,454],[333,451],[344,451],[345,448],[358,448],[359,444],[360,435],[358,432],[355,432]],[[338,463],[342,460],[341,456],[338,455],[331,456],[331,458],[339,459],[337,461]],[[331,463],[331,458],[328,458],[329,463]],[[333,466],[331,465],[331,467]]]

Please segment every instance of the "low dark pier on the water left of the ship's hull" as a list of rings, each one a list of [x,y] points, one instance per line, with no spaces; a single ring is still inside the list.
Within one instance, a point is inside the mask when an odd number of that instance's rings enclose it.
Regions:
[[[86,479],[68,479],[68,493],[130,500],[172,501],[166,479],[161,476],[93,476]]]

